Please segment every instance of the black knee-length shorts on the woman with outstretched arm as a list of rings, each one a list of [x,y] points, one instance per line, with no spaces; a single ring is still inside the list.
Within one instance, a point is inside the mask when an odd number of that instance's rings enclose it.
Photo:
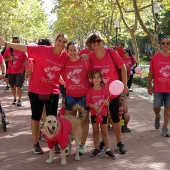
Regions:
[[[39,121],[42,117],[43,107],[45,105],[46,114],[57,116],[59,94],[50,94],[50,100],[39,100],[39,94],[29,92],[28,94],[31,104],[32,120]]]

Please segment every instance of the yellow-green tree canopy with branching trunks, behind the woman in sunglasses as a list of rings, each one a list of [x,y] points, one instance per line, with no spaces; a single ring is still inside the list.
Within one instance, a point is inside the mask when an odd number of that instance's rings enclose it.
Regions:
[[[156,0],[54,0],[54,2],[56,2],[54,12],[58,16],[54,24],[55,33],[65,32],[71,39],[82,41],[91,32],[99,31],[109,43],[109,40],[115,39],[114,21],[117,19],[120,22],[119,39],[125,40],[125,37],[130,37],[136,55],[138,55],[137,36],[148,36],[155,51],[159,50],[158,35],[163,33],[163,30],[166,32],[170,20],[169,0],[159,0],[161,4],[159,18],[156,18],[153,10]]]

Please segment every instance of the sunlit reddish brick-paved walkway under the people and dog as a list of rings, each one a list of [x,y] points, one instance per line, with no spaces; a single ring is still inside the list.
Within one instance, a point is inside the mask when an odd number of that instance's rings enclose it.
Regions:
[[[1,85],[0,92],[4,88],[5,85]],[[65,167],[60,165],[59,154],[56,154],[52,164],[45,163],[49,150],[44,141],[40,141],[44,154],[37,155],[32,152],[31,113],[27,92],[23,92],[22,106],[17,107],[11,105],[13,100],[11,90],[4,91],[0,94],[0,100],[10,124],[7,126],[7,132],[0,128],[0,170],[169,170],[170,138],[163,137],[161,129],[154,129],[152,99],[148,98],[146,89],[135,85],[132,88],[135,92],[131,92],[127,99],[131,115],[129,127],[132,131],[122,135],[127,154],[117,154],[115,135],[112,130],[109,130],[111,150],[117,159],[108,159],[104,153],[98,157],[90,157],[93,150],[90,126],[86,154],[81,156],[80,161],[74,161],[73,143],[73,154],[67,158],[68,165]]]

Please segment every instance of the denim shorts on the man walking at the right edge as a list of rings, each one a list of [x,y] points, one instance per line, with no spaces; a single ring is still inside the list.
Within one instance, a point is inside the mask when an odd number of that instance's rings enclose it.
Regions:
[[[161,107],[161,106],[170,106],[170,93],[154,93],[154,107]]]

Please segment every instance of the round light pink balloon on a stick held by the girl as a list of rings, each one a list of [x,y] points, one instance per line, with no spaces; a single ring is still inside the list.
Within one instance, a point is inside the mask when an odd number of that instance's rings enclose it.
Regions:
[[[112,95],[119,95],[123,92],[124,85],[120,80],[114,80],[109,85],[109,92]]]

